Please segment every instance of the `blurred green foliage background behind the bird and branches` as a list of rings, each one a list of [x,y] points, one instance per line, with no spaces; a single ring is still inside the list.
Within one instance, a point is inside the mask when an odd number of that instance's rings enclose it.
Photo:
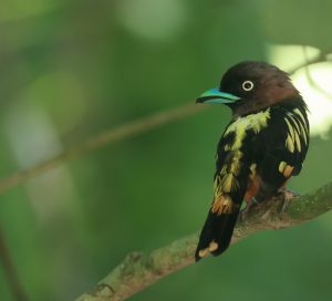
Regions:
[[[267,43],[331,48],[328,0],[4,0],[0,11],[0,175],[126,121],[187,102]],[[0,222],[30,300],[73,300],[133,250],[193,231],[211,197],[210,107],[65,163],[1,195]],[[312,138],[300,177],[331,180]],[[332,216],[260,232],[132,300],[331,300]],[[0,299],[13,300],[0,269]]]

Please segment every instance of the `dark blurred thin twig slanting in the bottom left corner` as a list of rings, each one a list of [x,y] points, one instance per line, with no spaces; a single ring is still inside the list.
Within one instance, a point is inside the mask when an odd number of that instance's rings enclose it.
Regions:
[[[0,260],[2,262],[4,276],[7,278],[8,284],[11,289],[14,300],[27,301],[28,298],[19,281],[13,262],[11,260],[10,252],[6,246],[6,240],[1,227],[0,227]]]

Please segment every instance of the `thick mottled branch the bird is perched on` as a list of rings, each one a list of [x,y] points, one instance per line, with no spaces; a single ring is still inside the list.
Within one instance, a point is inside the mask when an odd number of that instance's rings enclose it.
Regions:
[[[305,196],[284,190],[240,217],[231,243],[260,230],[277,230],[313,219],[332,209],[332,183]],[[160,278],[194,263],[198,233],[176,240],[148,255],[129,253],[90,293],[76,301],[121,301],[144,290]]]

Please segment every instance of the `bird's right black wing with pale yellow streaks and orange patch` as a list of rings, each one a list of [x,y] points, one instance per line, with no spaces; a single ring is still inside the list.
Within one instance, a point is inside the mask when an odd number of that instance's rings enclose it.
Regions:
[[[309,147],[309,123],[305,110],[274,108],[269,125],[258,137],[256,160],[261,178],[257,200],[274,194],[291,176],[302,168]]]

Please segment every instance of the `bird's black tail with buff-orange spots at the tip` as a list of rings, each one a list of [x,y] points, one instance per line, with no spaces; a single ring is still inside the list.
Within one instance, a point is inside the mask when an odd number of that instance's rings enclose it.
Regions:
[[[196,261],[209,253],[218,256],[228,248],[239,211],[240,206],[229,214],[209,211],[199,236],[195,252]]]

